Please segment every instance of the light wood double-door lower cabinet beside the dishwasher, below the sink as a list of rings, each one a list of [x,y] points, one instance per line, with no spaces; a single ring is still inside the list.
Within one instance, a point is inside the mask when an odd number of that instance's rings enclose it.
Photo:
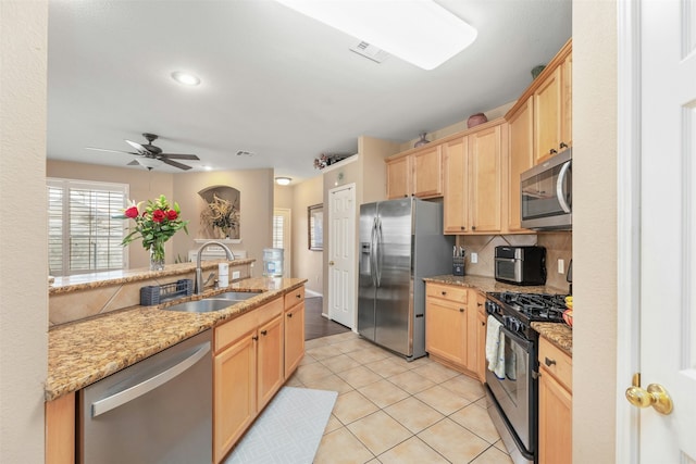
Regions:
[[[213,459],[221,462],[284,381],[283,298],[215,327]]]

